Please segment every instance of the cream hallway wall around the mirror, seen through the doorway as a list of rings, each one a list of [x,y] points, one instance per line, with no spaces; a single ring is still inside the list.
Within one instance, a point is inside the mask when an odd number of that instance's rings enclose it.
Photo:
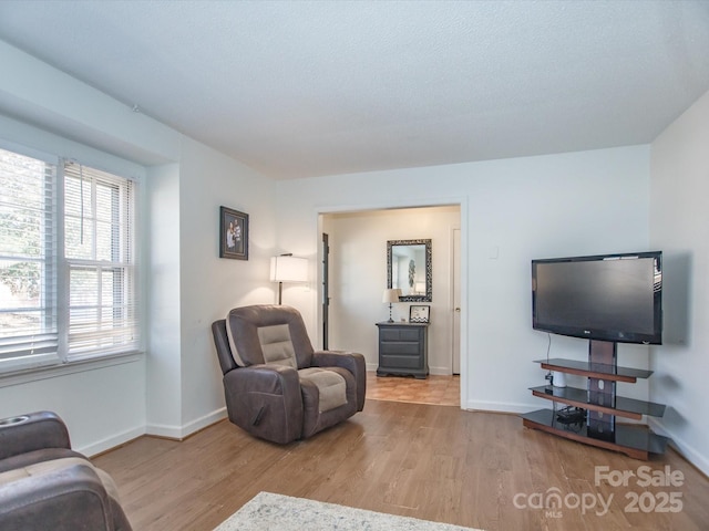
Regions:
[[[368,371],[377,369],[374,323],[389,319],[389,304],[381,302],[387,288],[387,241],[431,239],[433,301],[420,303],[431,305],[429,367],[431,374],[452,374],[451,231],[460,228],[460,207],[329,214],[325,218],[331,249],[329,346],[361,352]],[[393,319],[408,320],[411,304],[393,304]]]

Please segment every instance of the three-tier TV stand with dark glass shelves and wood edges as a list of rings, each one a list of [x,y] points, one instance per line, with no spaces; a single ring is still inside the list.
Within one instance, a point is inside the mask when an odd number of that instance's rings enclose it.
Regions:
[[[553,403],[566,404],[586,409],[583,425],[564,424],[552,409],[540,409],[522,415],[527,428],[541,429],[559,437],[576,440],[599,448],[620,451],[635,459],[648,460],[650,454],[662,454],[669,439],[656,435],[647,426],[617,424],[616,417],[640,420],[643,415],[661,417],[662,404],[636,400],[616,395],[618,382],[636,383],[637,378],[648,378],[651,371],[619,367],[617,365],[617,343],[590,340],[588,362],[573,360],[538,360],[542,368],[586,376],[587,388],[577,387],[532,387],[532,394]],[[554,408],[555,409],[555,408]]]

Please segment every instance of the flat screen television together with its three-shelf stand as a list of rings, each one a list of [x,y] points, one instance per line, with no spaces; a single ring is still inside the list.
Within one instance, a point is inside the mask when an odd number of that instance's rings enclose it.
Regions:
[[[532,261],[532,325],[535,330],[588,340],[588,361],[538,360],[548,374],[586,377],[585,388],[557,385],[557,378],[532,387],[554,409],[522,415],[541,429],[636,459],[661,454],[669,439],[647,426],[616,423],[661,417],[665,405],[616,394],[618,382],[635,383],[653,372],[617,363],[618,343],[662,343],[661,251],[552,258]],[[562,378],[564,379],[564,378]],[[565,382],[562,382],[565,384]],[[556,410],[556,404],[564,409]]]

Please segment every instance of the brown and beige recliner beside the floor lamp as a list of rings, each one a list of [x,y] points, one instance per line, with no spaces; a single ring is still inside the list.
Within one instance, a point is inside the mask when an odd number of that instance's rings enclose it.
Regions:
[[[236,308],[212,332],[229,420],[256,437],[307,438],[364,407],[364,356],[315,351],[294,308]]]

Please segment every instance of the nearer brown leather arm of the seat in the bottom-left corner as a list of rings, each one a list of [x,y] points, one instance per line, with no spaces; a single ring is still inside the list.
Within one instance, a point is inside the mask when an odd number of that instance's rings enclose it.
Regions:
[[[113,503],[88,465],[0,485],[0,522],[8,530],[130,530],[124,517],[115,521]]]

